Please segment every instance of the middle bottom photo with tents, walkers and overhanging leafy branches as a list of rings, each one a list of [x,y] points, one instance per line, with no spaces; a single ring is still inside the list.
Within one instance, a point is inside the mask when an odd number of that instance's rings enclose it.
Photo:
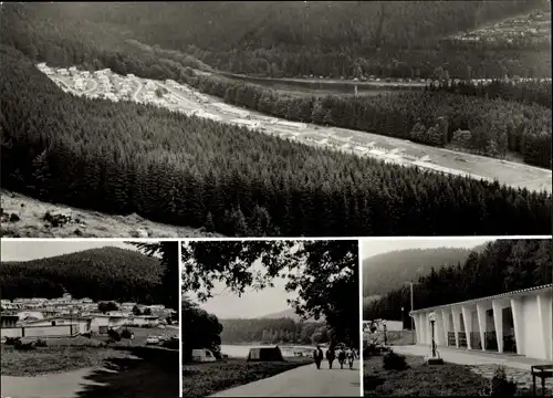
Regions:
[[[356,240],[182,242],[182,396],[361,396]]]

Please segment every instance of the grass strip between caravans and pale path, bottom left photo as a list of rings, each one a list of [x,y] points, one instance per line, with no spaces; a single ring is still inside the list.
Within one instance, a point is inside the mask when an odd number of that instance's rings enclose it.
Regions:
[[[36,376],[102,366],[108,358],[132,358],[128,352],[109,347],[49,346],[23,352],[1,345],[2,376]]]

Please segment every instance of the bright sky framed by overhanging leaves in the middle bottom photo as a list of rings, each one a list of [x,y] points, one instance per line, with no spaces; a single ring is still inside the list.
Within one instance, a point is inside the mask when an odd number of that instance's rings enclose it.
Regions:
[[[257,261],[253,268],[260,269],[261,263]],[[241,297],[229,292],[223,283],[215,283],[213,297],[200,303],[200,307],[221,320],[261,317],[291,308],[286,298],[294,298],[298,295],[294,292],[286,292],[284,289],[286,280],[279,277],[274,279],[273,283],[274,287],[265,287],[262,291],[247,289]],[[195,298],[194,295],[190,295],[190,298]]]

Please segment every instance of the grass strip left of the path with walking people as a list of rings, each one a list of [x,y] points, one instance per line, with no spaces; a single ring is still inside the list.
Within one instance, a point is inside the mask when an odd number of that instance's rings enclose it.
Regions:
[[[261,363],[247,363],[246,359],[231,358],[217,363],[185,364],[182,396],[207,397],[311,363],[313,363],[311,358],[286,358],[286,362]]]

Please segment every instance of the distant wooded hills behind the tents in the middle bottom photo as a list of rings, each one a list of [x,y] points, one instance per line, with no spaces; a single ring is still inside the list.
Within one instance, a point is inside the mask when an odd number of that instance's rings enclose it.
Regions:
[[[222,344],[317,344],[327,343],[332,333],[324,323],[283,318],[221,320]]]

